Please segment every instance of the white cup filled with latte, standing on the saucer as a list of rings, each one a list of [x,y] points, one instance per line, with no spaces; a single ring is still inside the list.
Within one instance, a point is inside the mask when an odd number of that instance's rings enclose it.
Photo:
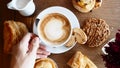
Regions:
[[[60,13],[50,13],[40,19],[37,25],[41,42],[50,47],[59,47],[67,43],[72,35],[70,21]]]

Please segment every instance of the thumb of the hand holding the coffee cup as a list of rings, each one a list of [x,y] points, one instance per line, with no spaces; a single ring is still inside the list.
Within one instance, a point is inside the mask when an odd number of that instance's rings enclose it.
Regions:
[[[32,50],[31,50],[31,54],[36,54],[37,53],[37,49],[39,48],[39,38],[36,37],[32,40],[31,42],[31,45],[32,45]]]

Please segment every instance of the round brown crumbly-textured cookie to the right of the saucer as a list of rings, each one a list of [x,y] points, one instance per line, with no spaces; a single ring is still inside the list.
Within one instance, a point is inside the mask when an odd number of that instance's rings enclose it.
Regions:
[[[88,37],[86,45],[89,47],[100,46],[110,35],[109,25],[103,19],[97,18],[85,20],[83,31]]]

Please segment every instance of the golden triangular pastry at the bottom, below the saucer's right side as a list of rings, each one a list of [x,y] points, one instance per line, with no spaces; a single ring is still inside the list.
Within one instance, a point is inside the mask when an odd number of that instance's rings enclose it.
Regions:
[[[77,51],[67,64],[71,68],[97,68],[97,66],[80,51]]]

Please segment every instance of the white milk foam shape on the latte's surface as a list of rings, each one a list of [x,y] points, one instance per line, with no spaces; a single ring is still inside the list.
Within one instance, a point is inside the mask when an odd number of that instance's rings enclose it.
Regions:
[[[55,41],[64,35],[64,23],[58,19],[51,19],[45,26],[44,32],[49,40]]]

